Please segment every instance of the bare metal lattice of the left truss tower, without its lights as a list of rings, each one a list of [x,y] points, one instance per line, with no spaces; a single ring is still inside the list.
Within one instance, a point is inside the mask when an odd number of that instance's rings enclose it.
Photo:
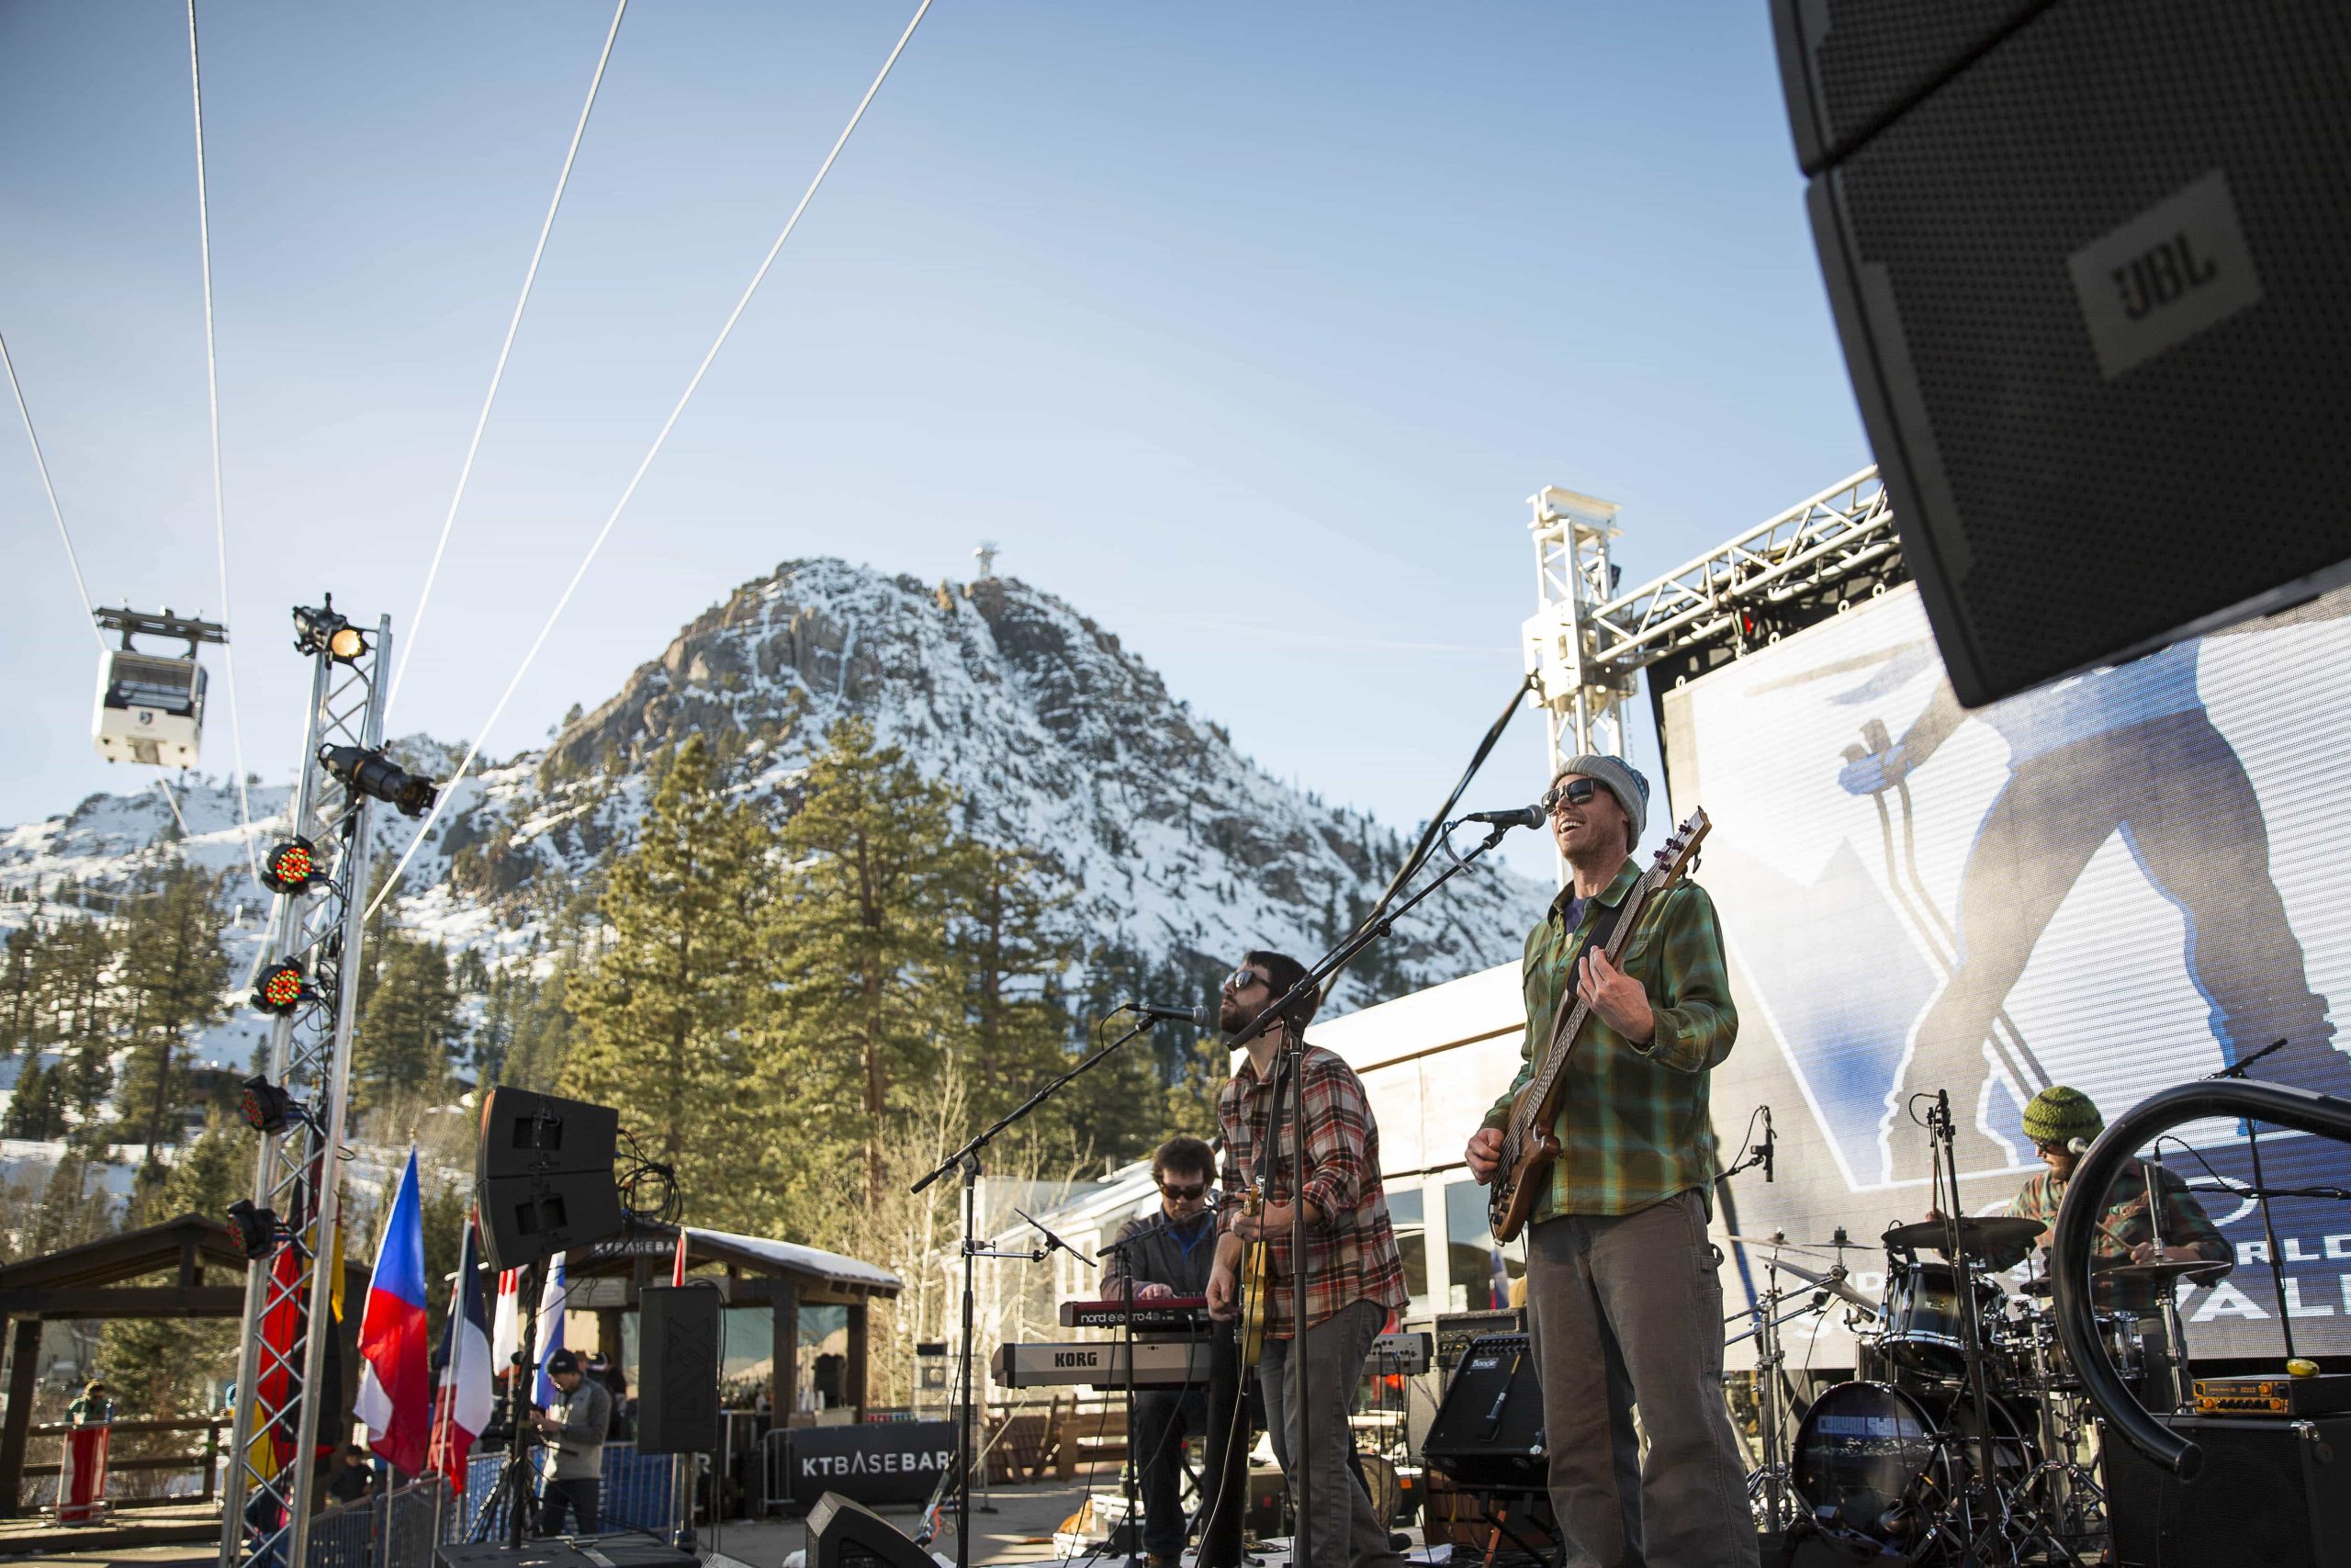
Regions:
[[[306,614],[294,611],[308,632]],[[221,1493],[221,1568],[301,1568],[308,1561],[317,1474],[310,1458],[322,1418],[331,1422],[341,1415],[341,1389],[320,1389],[320,1382],[327,1375],[341,1258],[343,1117],[350,1023],[360,1006],[371,802],[327,771],[322,750],[376,750],[383,743],[386,693],[379,675],[390,658],[393,623],[388,616],[379,621],[374,639],[362,639],[355,658],[339,658],[329,637],[306,635],[303,642],[317,649],[289,823],[294,837],[313,846],[324,879],[280,893],[263,936],[263,985],[268,976],[282,976],[282,964],[301,971],[299,1001],[275,1018],[263,1070],[294,1103],[294,1114],[284,1131],[261,1135],[254,1173],[252,1201],[275,1215],[275,1244],[245,1274],[235,1439]],[[348,1305],[350,1312],[360,1307]],[[329,1434],[341,1443],[341,1429]]]

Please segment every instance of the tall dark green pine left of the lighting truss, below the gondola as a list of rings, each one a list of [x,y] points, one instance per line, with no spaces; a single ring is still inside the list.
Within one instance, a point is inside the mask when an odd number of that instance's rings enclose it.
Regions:
[[[122,992],[132,1060],[118,1098],[122,1121],[143,1133],[150,1164],[160,1161],[165,1143],[179,1143],[186,1084],[174,1081],[174,1060],[197,1030],[221,1016],[226,924],[219,882],[186,863],[165,870],[125,912]]]

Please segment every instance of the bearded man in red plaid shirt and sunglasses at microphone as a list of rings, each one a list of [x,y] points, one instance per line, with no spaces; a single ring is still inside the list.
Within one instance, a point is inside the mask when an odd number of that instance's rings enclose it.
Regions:
[[[1241,1030],[1298,980],[1305,966],[1281,952],[1251,952],[1225,980],[1220,1025]],[[1248,1041],[1248,1060],[1215,1098],[1225,1128],[1225,1192],[1265,1180],[1265,1208],[1255,1215],[1227,1204],[1225,1234],[1215,1244],[1208,1274],[1208,1312],[1234,1316],[1241,1248],[1260,1237],[1272,1241],[1267,1272],[1265,1356],[1258,1387],[1265,1389],[1265,1425],[1274,1458],[1291,1472],[1298,1432],[1307,1429],[1312,1474],[1291,1476],[1298,1505],[1314,1509],[1314,1561],[1302,1568],[1396,1568],[1404,1559],[1389,1544],[1387,1521],[1371,1509],[1371,1495],[1347,1462],[1354,1432],[1347,1415],[1364,1378],[1364,1356],[1404,1307],[1404,1260],[1387,1222],[1380,1190],[1380,1128],[1371,1119],[1364,1081],[1354,1067],[1321,1046],[1310,1046],[1298,1067],[1298,1110],[1305,1124],[1305,1182],[1291,1175],[1293,1121],[1274,1110],[1274,1058],[1293,1032],[1302,1032],[1321,999],[1314,992],[1291,1018]],[[1293,1201],[1307,1211],[1307,1328],[1298,1335],[1291,1314],[1291,1218]],[[1293,1356],[1305,1356],[1307,1403],[1298,1401]]]

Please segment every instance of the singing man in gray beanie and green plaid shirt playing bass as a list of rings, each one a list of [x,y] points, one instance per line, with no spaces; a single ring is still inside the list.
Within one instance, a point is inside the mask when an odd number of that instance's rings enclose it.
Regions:
[[[1526,938],[1526,1065],[1465,1159],[1481,1182],[1502,1157],[1512,1100],[1589,1004],[1552,1133],[1561,1154],[1526,1227],[1526,1305],[1563,1568],[1754,1568],[1754,1519],[1723,1406],[1721,1253],[1712,1070],[1730,1056],[1714,903],[1690,882],[1655,893],[1606,945],[1641,879],[1632,858],[1648,783],[1622,757],[1573,757],[1542,806],[1570,882]],[[1641,1458],[1632,1408],[1641,1408]]]

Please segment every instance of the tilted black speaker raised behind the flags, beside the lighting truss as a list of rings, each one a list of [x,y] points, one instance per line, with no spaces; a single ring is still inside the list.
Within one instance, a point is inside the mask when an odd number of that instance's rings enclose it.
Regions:
[[[489,1267],[520,1269],[621,1229],[618,1133],[621,1112],[609,1105],[503,1084],[489,1091],[473,1161]]]

